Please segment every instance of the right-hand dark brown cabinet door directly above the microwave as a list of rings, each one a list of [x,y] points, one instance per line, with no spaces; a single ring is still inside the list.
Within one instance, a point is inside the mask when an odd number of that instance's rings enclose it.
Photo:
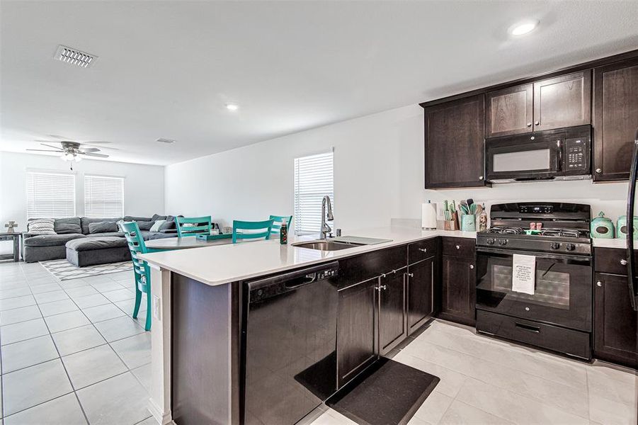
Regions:
[[[534,131],[591,123],[591,70],[534,83]]]

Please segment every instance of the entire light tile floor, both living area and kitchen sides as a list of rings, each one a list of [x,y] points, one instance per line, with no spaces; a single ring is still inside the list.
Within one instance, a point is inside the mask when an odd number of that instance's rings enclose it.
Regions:
[[[59,281],[0,263],[1,421],[153,424],[150,334],[130,273]],[[144,303],[142,303],[144,306]],[[411,425],[636,424],[635,373],[587,365],[435,320],[394,355],[441,380]],[[314,425],[353,424],[328,410]]]

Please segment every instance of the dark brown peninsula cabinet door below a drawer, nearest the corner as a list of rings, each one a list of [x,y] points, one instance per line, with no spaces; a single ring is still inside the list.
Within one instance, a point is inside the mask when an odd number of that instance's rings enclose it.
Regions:
[[[408,334],[416,331],[434,312],[436,256],[408,266],[406,315]]]

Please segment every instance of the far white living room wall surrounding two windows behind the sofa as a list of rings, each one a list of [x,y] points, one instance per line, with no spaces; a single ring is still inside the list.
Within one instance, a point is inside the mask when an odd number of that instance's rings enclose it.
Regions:
[[[83,159],[73,164],[76,174],[76,215],[84,215],[84,174],[123,176],[125,215],[150,216],[164,212],[164,167]],[[69,171],[69,163],[58,157],[0,152],[0,226],[16,220],[26,230],[27,169]],[[0,246],[8,249],[7,243]]]

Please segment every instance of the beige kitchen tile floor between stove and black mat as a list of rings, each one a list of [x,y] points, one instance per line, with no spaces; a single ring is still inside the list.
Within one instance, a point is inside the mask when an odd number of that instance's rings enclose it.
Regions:
[[[440,378],[409,425],[637,424],[638,376],[435,320],[394,355]],[[354,424],[332,409],[312,425]]]

